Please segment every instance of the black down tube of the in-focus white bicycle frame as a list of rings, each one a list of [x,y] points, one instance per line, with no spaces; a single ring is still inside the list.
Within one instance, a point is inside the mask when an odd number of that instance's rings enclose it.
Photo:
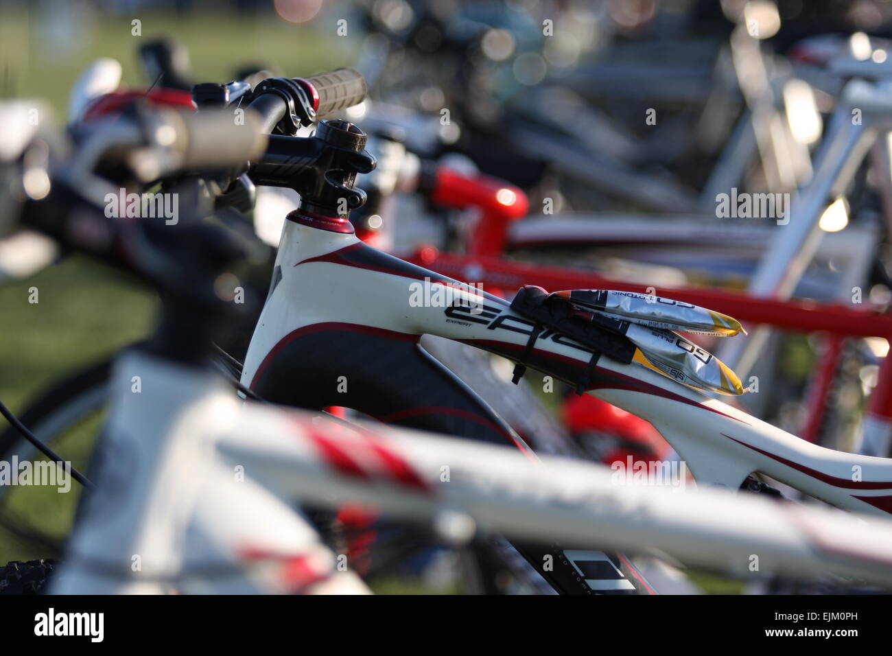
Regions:
[[[530,451],[478,394],[414,341],[340,329],[309,332],[281,345],[250,386],[273,403],[343,406],[396,426]],[[510,544],[559,593],[654,594],[620,554],[587,545]]]

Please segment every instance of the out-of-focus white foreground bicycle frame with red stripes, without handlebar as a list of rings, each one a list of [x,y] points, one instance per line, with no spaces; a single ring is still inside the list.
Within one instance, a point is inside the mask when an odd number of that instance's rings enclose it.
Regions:
[[[210,371],[138,350],[120,357],[111,386],[108,465],[54,594],[367,592],[289,507],[295,499],[433,519],[452,539],[479,527],[668,553],[740,577],[830,572],[892,585],[886,519],[616,485],[597,464],[537,464],[499,446],[243,404]]]

